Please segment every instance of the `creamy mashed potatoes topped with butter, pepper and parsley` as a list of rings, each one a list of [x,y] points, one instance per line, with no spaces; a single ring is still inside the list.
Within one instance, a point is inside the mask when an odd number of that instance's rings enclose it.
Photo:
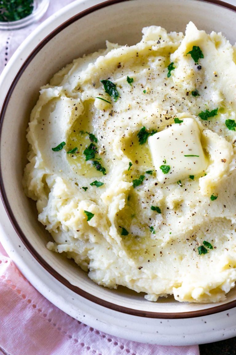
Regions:
[[[27,195],[94,282],[217,302],[236,280],[235,48],[143,29],[74,60],[31,113]]]

